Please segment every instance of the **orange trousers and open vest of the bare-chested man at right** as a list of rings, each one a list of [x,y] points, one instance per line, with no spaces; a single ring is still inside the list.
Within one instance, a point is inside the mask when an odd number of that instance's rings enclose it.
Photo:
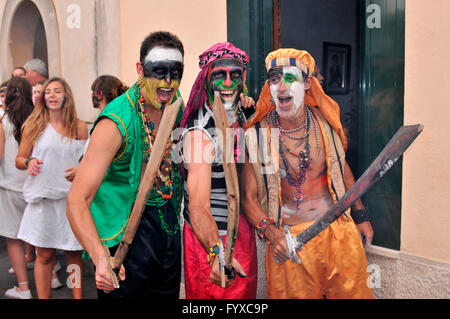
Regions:
[[[328,188],[333,202],[337,202],[345,194],[343,165],[346,141],[341,142],[340,134],[336,133],[318,108],[312,108],[312,111],[318,120],[325,144]],[[259,122],[262,128],[265,127],[264,121]],[[262,140],[266,143],[265,150],[272,150],[273,154],[276,152],[276,156],[268,156],[270,163],[278,167],[278,151],[268,146],[271,138]],[[261,141],[259,147],[262,146]],[[267,159],[261,161],[268,163]],[[257,165],[254,164],[255,172],[261,172]],[[268,174],[265,178],[268,183],[261,186],[264,178],[257,177],[258,198],[263,209],[274,220],[282,219],[282,212],[279,214],[278,170],[275,168],[275,173]],[[313,222],[301,223],[290,227],[290,231],[296,236],[312,224]],[[373,298],[372,290],[367,284],[369,273],[366,254],[349,210],[297,254],[302,264],[291,260],[278,264],[274,261],[271,245],[267,244],[266,277],[269,298]]]

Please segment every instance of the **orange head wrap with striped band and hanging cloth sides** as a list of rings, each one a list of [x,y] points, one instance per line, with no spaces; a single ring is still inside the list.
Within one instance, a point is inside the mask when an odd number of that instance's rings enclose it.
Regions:
[[[314,72],[315,61],[305,50],[278,49],[266,57],[267,72],[277,66],[296,66],[310,76]],[[339,105],[325,94],[319,80],[312,76],[310,78],[311,87],[306,91],[305,104],[309,107],[317,106],[319,108],[328,123],[339,134],[344,150],[347,150],[348,142],[341,124]],[[269,83],[266,81],[256,103],[255,115],[247,122],[245,128],[261,121],[273,109],[275,109],[275,104],[271,101]]]

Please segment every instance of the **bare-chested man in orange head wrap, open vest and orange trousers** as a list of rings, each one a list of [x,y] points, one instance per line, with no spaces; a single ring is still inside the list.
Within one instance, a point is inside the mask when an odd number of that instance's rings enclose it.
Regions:
[[[360,200],[353,219],[346,212],[297,252],[301,264],[290,259],[283,226],[298,235],[354,184],[339,106],[311,76],[314,65],[306,51],[279,49],[267,56],[268,80],[246,127],[249,135],[266,132],[252,142],[270,151],[247,153],[252,160],[241,170],[242,209],[268,240],[269,298],[373,298],[360,238],[370,243],[373,230]]]

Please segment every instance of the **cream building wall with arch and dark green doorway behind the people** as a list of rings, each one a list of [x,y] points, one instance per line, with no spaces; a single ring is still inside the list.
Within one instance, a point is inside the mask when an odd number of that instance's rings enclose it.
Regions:
[[[346,48],[348,82],[327,90],[349,129],[356,177],[401,125],[425,127],[363,198],[375,231],[369,284],[378,298],[450,298],[449,10],[449,0],[0,0],[0,77],[40,57],[50,76],[69,82],[79,116],[92,122],[92,81],[112,74],[132,85],[140,42],[152,31],[171,31],[185,45],[185,101],[198,56],[216,42],[247,51],[255,99],[272,49],[307,49],[326,75],[330,48]]]

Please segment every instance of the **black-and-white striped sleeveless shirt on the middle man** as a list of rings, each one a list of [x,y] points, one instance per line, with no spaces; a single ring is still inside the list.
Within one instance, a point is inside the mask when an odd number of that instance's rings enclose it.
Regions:
[[[183,159],[183,165],[185,168],[185,180],[184,180],[184,211],[183,216],[186,222],[190,224],[189,218],[189,192],[187,189],[187,176],[189,174],[186,161],[183,157],[183,142],[186,134],[193,130],[200,130],[211,140],[214,150],[215,158],[212,163],[211,171],[211,194],[209,197],[211,213],[216,221],[217,228],[219,229],[219,236],[225,236],[227,234],[227,220],[228,220],[228,197],[225,183],[225,173],[222,165],[222,152],[218,147],[216,129],[214,125],[214,117],[209,107],[203,106],[186,124],[186,130],[181,137],[181,158]]]

